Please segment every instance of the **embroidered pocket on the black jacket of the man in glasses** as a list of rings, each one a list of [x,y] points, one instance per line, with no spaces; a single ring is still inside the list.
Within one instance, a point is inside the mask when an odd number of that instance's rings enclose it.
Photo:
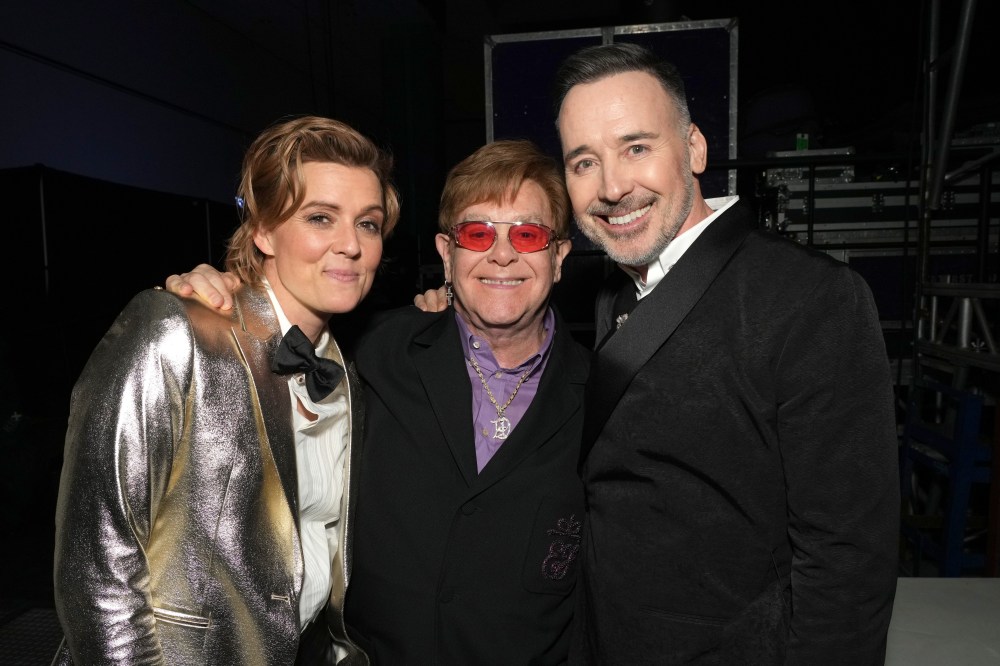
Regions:
[[[583,540],[583,502],[547,497],[538,505],[522,581],[529,592],[568,594],[576,583]]]

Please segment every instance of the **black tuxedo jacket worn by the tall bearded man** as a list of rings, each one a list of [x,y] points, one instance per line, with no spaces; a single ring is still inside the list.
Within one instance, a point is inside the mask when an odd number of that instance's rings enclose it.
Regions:
[[[884,659],[899,491],[878,316],[846,265],[753,227],[739,205],[711,223],[593,360],[576,661]]]

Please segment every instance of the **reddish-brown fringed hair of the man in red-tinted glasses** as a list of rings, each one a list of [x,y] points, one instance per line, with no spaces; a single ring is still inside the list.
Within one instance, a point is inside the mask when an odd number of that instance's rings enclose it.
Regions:
[[[512,201],[525,181],[537,183],[549,202],[553,231],[569,235],[569,195],[562,169],[531,141],[523,139],[488,143],[456,164],[441,192],[438,227],[448,233],[458,216],[478,203]]]

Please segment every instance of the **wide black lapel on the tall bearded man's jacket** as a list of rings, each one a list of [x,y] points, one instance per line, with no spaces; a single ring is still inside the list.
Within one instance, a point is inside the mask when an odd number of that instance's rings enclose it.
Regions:
[[[594,354],[587,382],[581,461],[632,378],[670,338],[752,229],[753,219],[742,207],[734,207],[712,222],[653,292],[639,302],[625,325]]]

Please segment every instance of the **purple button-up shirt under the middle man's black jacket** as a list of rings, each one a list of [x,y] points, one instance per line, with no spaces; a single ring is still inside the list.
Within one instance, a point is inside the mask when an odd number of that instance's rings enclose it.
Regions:
[[[483,388],[483,383],[479,380],[479,375],[476,374],[476,369],[472,367],[469,359],[476,359],[476,363],[479,364],[479,369],[483,373],[483,378],[500,405],[507,402],[507,398],[514,391],[521,376],[525,372],[528,373],[521,388],[517,390],[517,395],[504,410],[504,416],[510,420],[510,431],[512,432],[524,413],[528,411],[528,406],[538,392],[538,382],[541,380],[545,364],[549,360],[549,352],[552,349],[556,317],[552,308],[545,312],[545,318],[542,320],[542,325],[545,327],[545,339],[542,341],[541,348],[537,354],[516,368],[501,368],[493,356],[493,350],[490,349],[489,343],[484,338],[473,335],[465,324],[465,320],[457,312],[455,319],[458,321],[462,352],[465,354],[465,366],[469,371],[469,383],[472,385],[472,423],[476,429],[476,464],[481,472],[493,454],[504,443],[504,440],[494,437],[497,432],[497,408],[490,402],[490,396]],[[510,432],[508,432],[509,434]]]

